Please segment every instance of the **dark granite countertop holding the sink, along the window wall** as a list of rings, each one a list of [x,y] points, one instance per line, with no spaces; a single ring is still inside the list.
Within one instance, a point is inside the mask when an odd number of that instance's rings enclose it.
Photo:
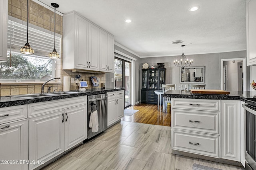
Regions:
[[[59,100],[59,99],[66,99],[66,98],[74,98],[78,96],[88,96],[94,94],[104,94],[107,92],[114,92],[124,90],[124,88],[92,88],[86,89],[85,92],[79,92],[77,94],[63,94],[58,96],[47,96],[42,98],[17,98],[17,97],[10,97],[10,96],[0,96],[0,107],[9,107],[9,106],[18,106],[23,104],[30,104],[30,103],[37,103],[37,102],[46,102],[51,100]],[[76,91],[76,90],[73,90]]]

